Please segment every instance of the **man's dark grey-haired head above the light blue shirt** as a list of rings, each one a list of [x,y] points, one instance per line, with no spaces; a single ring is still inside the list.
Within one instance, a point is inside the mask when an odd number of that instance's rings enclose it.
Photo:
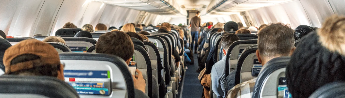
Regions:
[[[238,38],[236,34],[232,34],[232,33],[224,34],[223,37],[221,38],[221,47],[223,47],[224,51],[228,51],[230,45],[237,40],[240,40],[240,39]]]

